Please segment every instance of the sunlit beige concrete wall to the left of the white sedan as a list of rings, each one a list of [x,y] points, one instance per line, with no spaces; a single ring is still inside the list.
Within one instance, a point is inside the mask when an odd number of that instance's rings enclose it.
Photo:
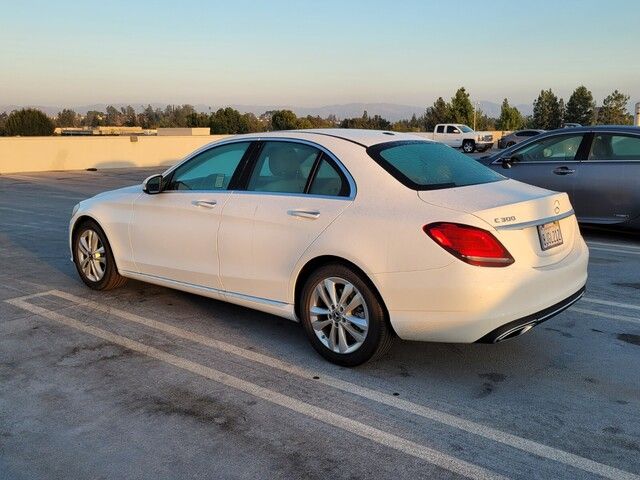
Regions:
[[[0,174],[169,166],[226,136],[0,137]]]

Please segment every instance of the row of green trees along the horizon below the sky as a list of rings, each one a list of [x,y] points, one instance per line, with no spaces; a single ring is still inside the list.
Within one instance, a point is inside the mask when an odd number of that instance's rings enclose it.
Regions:
[[[116,108],[109,105],[104,112],[91,110],[80,115],[65,108],[55,118],[36,109],[15,110],[0,113],[0,135],[43,136],[52,135],[55,127],[126,126],[154,129],[159,127],[209,127],[212,134],[240,134],[271,130],[306,128],[364,128],[404,132],[432,131],[438,123],[463,123],[477,130],[519,130],[539,128],[552,130],[564,123],[581,125],[630,125],[633,115],[627,110],[629,95],[614,90],[596,105],[587,87],[577,87],[569,100],[558,98],[551,89],[542,90],[533,102],[533,114],[524,116],[504,99],[498,118],[492,118],[475,108],[469,93],[460,87],[450,101],[442,97],[425,109],[422,115],[390,122],[380,115],[370,116],[365,111],[361,117],[338,120],[335,115],[326,118],[308,115],[298,117],[291,110],[271,110],[256,116],[240,113],[227,107],[209,113],[197,112],[191,105],[167,105],[153,108],[148,105],[141,112],[132,106]]]

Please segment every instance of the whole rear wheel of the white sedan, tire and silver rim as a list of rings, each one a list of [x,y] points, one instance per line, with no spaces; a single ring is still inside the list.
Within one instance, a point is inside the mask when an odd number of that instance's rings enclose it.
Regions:
[[[313,348],[338,365],[353,367],[377,358],[393,340],[381,301],[345,265],[326,265],[307,279],[300,313]]]

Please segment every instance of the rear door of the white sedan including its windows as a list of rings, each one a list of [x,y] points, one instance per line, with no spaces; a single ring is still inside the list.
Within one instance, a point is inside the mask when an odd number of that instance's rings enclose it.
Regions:
[[[222,285],[229,295],[288,303],[296,263],[351,205],[355,187],[335,157],[304,142],[262,143],[248,172],[225,206]]]

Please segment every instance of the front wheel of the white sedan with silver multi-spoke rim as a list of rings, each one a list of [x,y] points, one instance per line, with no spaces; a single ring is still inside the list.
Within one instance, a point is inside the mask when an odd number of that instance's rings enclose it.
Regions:
[[[111,290],[127,281],[118,273],[107,236],[93,220],[75,229],[73,261],[82,281],[94,290]]]

